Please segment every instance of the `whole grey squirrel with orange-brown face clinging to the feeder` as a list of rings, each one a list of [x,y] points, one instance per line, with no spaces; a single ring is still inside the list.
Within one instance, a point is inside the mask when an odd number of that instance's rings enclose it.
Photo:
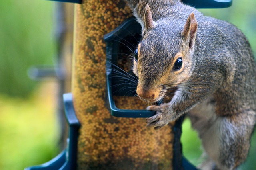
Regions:
[[[246,160],[256,120],[256,66],[244,34],[180,0],[126,0],[142,25],[134,55],[137,94],[160,129],[187,114],[208,160],[202,169],[236,169]]]

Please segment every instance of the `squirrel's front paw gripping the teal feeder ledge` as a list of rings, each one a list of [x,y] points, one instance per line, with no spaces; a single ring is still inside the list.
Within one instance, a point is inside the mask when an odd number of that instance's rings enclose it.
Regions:
[[[160,129],[167,125],[171,120],[171,113],[168,113],[168,105],[161,104],[160,106],[148,106],[147,110],[156,111],[156,114],[146,119],[147,127],[154,127],[154,129]]]

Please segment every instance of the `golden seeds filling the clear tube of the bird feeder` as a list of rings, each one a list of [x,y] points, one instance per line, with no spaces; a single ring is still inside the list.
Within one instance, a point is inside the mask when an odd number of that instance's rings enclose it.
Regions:
[[[113,117],[105,107],[103,36],[132,16],[129,7],[121,0],[86,0],[76,5],[75,15],[72,93],[81,123],[78,170],[172,169],[171,124],[159,131],[147,129],[145,119]],[[118,62],[126,72],[130,64],[129,59]],[[114,96],[114,100],[120,109],[146,109],[135,97]]]

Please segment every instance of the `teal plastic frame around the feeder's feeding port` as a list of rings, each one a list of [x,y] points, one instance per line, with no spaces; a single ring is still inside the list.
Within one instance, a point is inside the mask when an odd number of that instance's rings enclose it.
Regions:
[[[135,20],[135,18],[129,18],[124,21],[119,27],[114,29],[114,31],[104,35],[104,40],[106,41],[106,105],[110,110],[111,115],[116,117],[151,117],[155,115],[155,111],[148,110],[127,110],[119,109],[116,107],[113,99],[113,95],[118,96],[127,96],[126,92],[131,90],[136,92],[136,87],[130,87],[129,80],[126,80],[126,77],[122,77],[120,74],[116,74],[115,66],[117,61],[117,54],[120,48],[120,42],[129,35],[135,35],[136,33],[140,34],[141,26]],[[134,45],[136,47],[137,44]],[[132,77],[131,77],[132,78]],[[126,84],[124,83],[126,82]],[[122,83],[122,85],[120,85]],[[125,89],[125,92],[123,91]],[[130,96],[134,96],[134,93],[131,93]]]

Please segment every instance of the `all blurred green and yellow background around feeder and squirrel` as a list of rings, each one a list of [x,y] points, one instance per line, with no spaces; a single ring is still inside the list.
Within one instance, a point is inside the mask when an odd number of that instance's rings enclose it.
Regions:
[[[238,26],[256,54],[255,8],[255,0],[234,0],[230,8],[201,11]],[[30,66],[55,63],[53,30],[54,2],[0,1],[0,170],[22,170],[60,152],[56,80],[35,82],[27,76]],[[256,169],[255,143],[256,134],[241,169]],[[200,141],[187,119],[182,144],[186,158],[193,164],[202,162]]]

